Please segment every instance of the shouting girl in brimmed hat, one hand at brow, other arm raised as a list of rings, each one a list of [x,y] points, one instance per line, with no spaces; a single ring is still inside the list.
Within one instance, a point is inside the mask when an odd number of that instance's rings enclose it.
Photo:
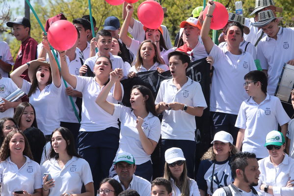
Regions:
[[[50,64],[44,62],[44,58],[38,58],[14,70],[10,77],[29,97],[29,103],[36,111],[38,128],[44,133],[46,139],[50,140],[52,130],[60,124],[57,103],[61,93],[61,78],[48,41],[43,40],[42,43],[49,55]],[[31,83],[21,77],[27,69]]]

